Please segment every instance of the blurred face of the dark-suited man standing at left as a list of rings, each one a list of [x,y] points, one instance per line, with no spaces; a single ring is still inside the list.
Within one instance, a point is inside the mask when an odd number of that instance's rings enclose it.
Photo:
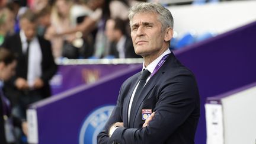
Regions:
[[[25,37],[27,38],[27,40],[31,40],[33,39],[34,36],[36,36],[36,27],[37,27],[36,23],[31,23],[27,19],[23,18],[20,21],[20,24],[21,24],[21,29],[24,31]]]

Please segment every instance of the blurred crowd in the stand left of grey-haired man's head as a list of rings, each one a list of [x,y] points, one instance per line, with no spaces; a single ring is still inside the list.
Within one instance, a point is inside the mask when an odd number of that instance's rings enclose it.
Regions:
[[[131,58],[127,20],[135,0],[3,0],[0,44],[20,32],[20,17],[36,14],[36,33],[49,40],[55,59]]]

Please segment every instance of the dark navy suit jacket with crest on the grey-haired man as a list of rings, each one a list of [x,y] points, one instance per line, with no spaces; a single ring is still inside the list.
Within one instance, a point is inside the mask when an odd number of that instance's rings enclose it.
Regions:
[[[193,144],[200,116],[200,97],[193,73],[171,53],[146,83],[135,110],[130,111],[128,124],[129,101],[140,75],[141,72],[133,75],[121,86],[117,105],[98,135],[98,143]],[[144,128],[142,109],[156,113]],[[110,126],[122,121],[124,127],[108,137]]]

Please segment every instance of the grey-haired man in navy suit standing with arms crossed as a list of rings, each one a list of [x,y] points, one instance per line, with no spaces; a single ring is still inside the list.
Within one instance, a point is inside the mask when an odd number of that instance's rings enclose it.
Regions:
[[[143,57],[145,70],[121,86],[98,143],[194,143],[199,91],[193,73],[168,49],[171,12],[160,4],[141,3],[130,9],[129,19],[135,53]]]

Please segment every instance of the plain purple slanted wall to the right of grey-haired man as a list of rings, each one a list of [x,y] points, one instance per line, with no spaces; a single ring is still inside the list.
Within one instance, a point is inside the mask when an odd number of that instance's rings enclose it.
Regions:
[[[201,96],[196,143],[205,144],[206,97],[256,82],[256,22],[194,44],[176,56],[196,75]]]

